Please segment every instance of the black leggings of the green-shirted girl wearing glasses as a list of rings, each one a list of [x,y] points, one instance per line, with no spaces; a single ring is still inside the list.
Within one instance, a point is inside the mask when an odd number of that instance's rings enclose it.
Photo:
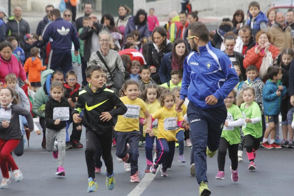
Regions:
[[[239,144],[230,145],[225,138],[223,137],[220,138],[220,146],[218,147],[218,170],[219,171],[225,171],[225,155],[227,154],[227,149],[229,151],[229,158],[231,160],[232,170],[237,170],[238,147],[239,147]]]

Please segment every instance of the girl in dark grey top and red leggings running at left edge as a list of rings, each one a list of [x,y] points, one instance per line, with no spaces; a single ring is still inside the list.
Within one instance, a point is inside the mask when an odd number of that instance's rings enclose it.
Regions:
[[[11,182],[8,165],[16,182],[23,179],[19,167],[11,156],[12,150],[17,147],[21,139],[19,115],[26,117],[29,130],[34,129],[34,121],[28,110],[16,105],[18,100],[11,88],[5,87],[0,90],[0,101],[0,167],[3,176],[0,188],[6,189]]]

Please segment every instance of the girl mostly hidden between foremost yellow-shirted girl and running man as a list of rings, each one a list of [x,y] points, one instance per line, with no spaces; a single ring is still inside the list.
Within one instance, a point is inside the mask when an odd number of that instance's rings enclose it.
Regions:
[[[171,93],[173,93],[173,96],[175,96],[175,98],[176,98],[175,105],[178,103],[178,100],[180,99],[180,91],[181,91],[181,88],[178,86],[173,88],[173,90],[171,91]],[[187,106],[185,104],[183,104],[182,108],[183,108],[183,111],[181,113],[184,116],[187,113]],[[178,140],[178,143],[176,143],[176,147],[177,146],[179,147],[179,162],[186,163],[186,159],[184,157],[184,146],[185,146],[184,129],[177,130],[176,138]]]

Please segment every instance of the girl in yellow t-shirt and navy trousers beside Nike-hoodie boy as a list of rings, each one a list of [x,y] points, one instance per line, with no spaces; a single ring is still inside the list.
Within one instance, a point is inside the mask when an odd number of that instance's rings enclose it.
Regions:
[[[121,101],[126,105],[128,111],[124,115],[119,115],[114,127],[116,130],[116,156],[125,163],[131,163],[131,182],[140,182],[138,177],[138,144],[140,140],[139,114],[142,111],[146,117],[146,133],[153,136],[151,130],[151,117],[144,101],[137,98],[139,93],[138,83],[128,80],[123,84],[123,93],[126,96],[121,97]]]

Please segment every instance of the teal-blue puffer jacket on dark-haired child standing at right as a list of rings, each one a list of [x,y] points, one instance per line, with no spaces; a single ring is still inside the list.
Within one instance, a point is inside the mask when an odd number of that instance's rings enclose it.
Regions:
[[[284,86],[283,90],[281,91],[281,96],[278,97],[276,92],[279,85],[282,85],[280,80],[278,83],[275,83],[269,79],[266,81],[263,87],[263,110],[264,114],[267,116],[278,115],[280,113],[282,98],[286,96],[287,88]]]

